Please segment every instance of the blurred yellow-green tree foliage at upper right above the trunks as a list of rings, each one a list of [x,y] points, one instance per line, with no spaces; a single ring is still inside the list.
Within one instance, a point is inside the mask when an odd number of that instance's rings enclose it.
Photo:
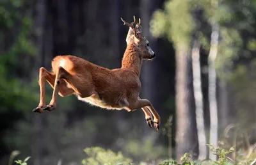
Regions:
[[[182,8],[182,10],[180,10]],[[203,10],[204,23],[200,26],[200,42],[205,51],[211,46],[211,26],[220,26],[220,43],[216,57],[216,70],[221,79],[228,78],[234,67],[234,60],[252,57],[255,46],[255,3],[250,1],[179,1],[169,0],[163,10],[157,10],[150,22],[150,30],[155,37],[166,37],[173,42],[175,49],[187,49],[196,22],[191,17],[193,10]],[[205,24],[207,22],[207,24]],[[250,34],[250,35],[248,35]],[[248,38],[248,39],[246,39]]]

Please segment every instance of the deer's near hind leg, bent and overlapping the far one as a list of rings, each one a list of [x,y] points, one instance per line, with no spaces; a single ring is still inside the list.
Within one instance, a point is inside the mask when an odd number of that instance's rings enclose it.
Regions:
[[[58,67],[54,81],[52,99],[49,105],[43,107],[44,110],[52,111],[56,108],[58,92],[61,90],[61,84],[67,83],[72,88],[72,93],[77,93],[81,97],[90,97],[92,95],[92,85],[88,81],[81,81],[76,75],[71,75],[63,67]],[[86,88],[83,88],[85,86]]]

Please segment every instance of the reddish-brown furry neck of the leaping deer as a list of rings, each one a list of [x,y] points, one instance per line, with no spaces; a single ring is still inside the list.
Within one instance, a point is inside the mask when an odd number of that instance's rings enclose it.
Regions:
[[[122,68],[130,68],[134,70],[138,77],[140,77],[140,70],[142,65],[142,58],[138,54],[138,48],[134,43],[127,45],[127,48],[124,52],[124,57],[122,59]]]

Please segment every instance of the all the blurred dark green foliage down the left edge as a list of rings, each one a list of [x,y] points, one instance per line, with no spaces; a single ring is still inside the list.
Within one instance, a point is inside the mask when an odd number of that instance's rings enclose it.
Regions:
[[[0,106],[1,113],[14,109],[21,113],[27,113],[24,109],[31,104],[24,104],[26,100],[35,100],[35,92],[31,92],[30,86],[26,81],[22,81],[20,77],[13,76],[15,70],[21,72],[26,67],[22,65],[24,56],[35,55],[36,49],[31,38],[30,31],[33,28],[31,17],[23,12],[20,8],[22,4],[27,5],[28,1],[1,1],[0,3],[0,19],[1,27],[1,48],[0,51]],[[17,28],[19,27],[19,28]],[[8,33],[15,28],[15,33]],[[11,42],[10,42],[11,41]],[[3,43],[2,43],[3,42]],[[10,43],[9,43],[10,42]],[[28,67],[30,67],[28,65]],[[15,102],[15,104],[13,104]]]

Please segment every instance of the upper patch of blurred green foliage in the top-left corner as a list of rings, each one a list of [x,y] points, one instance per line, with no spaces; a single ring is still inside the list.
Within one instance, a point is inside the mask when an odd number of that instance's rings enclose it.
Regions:
[[[21,5],[28,6],[29,1],[12,0],[0,3],[0,24],[3,27],[0,31],[3,42],[1,46],[4,48],[4,54],[8,54],[9,58],[18,54],[36,54],[36,47],[29,37],[33,28],[33,19],[29,15],[29,10],[24,12],[26,8],[21,8]],[[14,29],[15,33],[10,33]],[[10,34],[6,34],[8,32]]]

